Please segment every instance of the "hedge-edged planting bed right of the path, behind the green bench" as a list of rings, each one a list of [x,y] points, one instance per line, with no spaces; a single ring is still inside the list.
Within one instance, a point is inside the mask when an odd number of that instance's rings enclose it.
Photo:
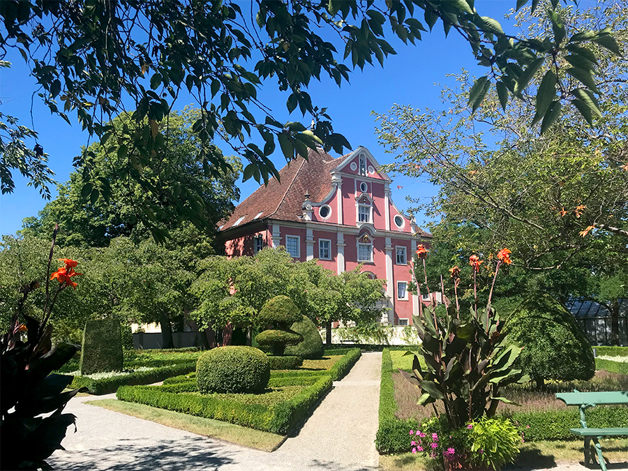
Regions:
[[[403,351],[384,350],[382,353],[382,382],[380,386],[380,427],[375,441],[380,454],[403,454],[410,451],[408,432],[417,430],[434,414],[432,406],[417,405],[421,391],[403,379],[397,368],[410,371],[412,356]],[[423,361],[419,357],[419,361]],[[620,361],[611,363],[622,364]],[[425,368],[424,364],[421,364]],[[599,368],[599,367],[598,367]],[[501,403],[498,415],[514,421],[525,442],[541,440],[577,440],[569,428],[579,426],[578,410],[557,401],[560,391],[626,391],[628,375],[598,369],[589,381],[550,382],[546,391],[534,391],[528,384],[504,388],[503,395],[521,407]],[[439,413],[440,405],[435,404]],[[618,427],[628,423],[628,408],[606,406],[588,411],[590,427]],[[620,440],[621,441],[621,440]],[[581,446],[581,441],[578,440]]]

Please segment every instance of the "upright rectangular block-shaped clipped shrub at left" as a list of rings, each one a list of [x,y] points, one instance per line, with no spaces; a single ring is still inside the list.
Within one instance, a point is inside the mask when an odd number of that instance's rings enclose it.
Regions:
[[[122,371],[120,322],[115,319],[88,320],[83,331],[81,375]]]

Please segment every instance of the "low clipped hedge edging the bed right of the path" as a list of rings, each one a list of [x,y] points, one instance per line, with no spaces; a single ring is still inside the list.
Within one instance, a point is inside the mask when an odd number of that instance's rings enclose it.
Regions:
[[[608,361],[608,363],[618,362]],[[408,433],[410,430],[417,430],[421,427],[421,421],[416,419],[401,420],[395,417],[397,403],[394,396],[393,372],[390,350],[384,349],[380,383],[380,425],[375,438],[375,447],[380,454],[397,454],[410,451]],[[574,434],[569,433],[569,428],[580,426],[578,408],[514,412],[513,414],[504,414],[504,417],[509,417],[514,421],[519,431],[524,434],[526,441],[578,439]],[[607,405],[590,409],[587,411],[587,425],[593,428],[628,426],[628,408]]]

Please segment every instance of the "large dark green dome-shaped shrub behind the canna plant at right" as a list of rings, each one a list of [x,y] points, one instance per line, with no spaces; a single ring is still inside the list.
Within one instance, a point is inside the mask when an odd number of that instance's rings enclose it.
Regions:
[[[548,295],[528,299],[515,309],[505,329],[509,342],[523,347],[517,368],[539,388],[544,380],[590,380],[593,350],[574,316]]]

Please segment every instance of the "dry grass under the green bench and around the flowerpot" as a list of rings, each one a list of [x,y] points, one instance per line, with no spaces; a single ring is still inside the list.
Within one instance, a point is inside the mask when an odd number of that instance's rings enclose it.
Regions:
[[[628,466],[628,440],[609,438],[600,440],[604,458],[611,463],[624,463]],[[525,463],[527,469],[553,468],[555,463],[584,461],[583,441],[527,442],[521,447],[517,461],[513,466],[504,469],[521,468]],[[422,471],[432,469],[428,458],[403,453],[398,455],[380,456],[380,468],[384,471]],[[614,469],[614,467],[609,469]],[[623,469],[623,468],[622,468]]]

